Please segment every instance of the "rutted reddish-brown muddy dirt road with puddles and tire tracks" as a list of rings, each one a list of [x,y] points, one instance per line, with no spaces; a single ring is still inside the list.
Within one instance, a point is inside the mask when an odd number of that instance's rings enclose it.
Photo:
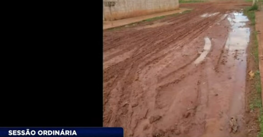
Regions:
[[[190,13],[103,33],[103,125],[125,137],[246,136],[251,3],[182,4]]]

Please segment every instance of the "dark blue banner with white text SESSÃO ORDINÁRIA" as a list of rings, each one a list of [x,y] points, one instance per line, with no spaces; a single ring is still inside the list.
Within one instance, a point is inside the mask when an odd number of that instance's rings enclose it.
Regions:
[[[68,128],[68,127],[5,127],[0,128],[0,137],[11,136],[76,136],[76,137],[123,137],[123,128]]]

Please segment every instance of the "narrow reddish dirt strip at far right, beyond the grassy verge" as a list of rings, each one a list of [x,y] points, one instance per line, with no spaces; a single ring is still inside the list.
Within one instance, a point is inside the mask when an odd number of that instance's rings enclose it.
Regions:
[[[256,30],[258,32],[258,51],[259,51],[259,69],[260,69],[260,78],[261,78],[261,96],[263,98],[263,9],[256,12]],[[263,106],[263,101],[262,101]]]

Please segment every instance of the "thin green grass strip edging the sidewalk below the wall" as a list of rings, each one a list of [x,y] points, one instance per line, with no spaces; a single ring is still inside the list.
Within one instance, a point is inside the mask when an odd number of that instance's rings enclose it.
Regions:
[[[156,21],[156,20],[159,20],[159,19],[163,19],[164,17],[178,16],[178,15],[180,15],[180,14],[189,13],[189,12],[191,12],[191,11],[192,11],[192,9],[191,9],[191,10],[183,11],[182,13],[174,13],[174,14],[171,14],[171,15],[165,15],[165,16],[154,17],[154,18],[145,19],[145,20],[142,20],[142,21],[138,21],[138,22],[130,23],[130,24],[127,24],[127,25],[123,25],[123,26],[118,26],[118,27],[113,27],[113,28],[105,29],[105,30],[107,30],[107,31],[118,30],[118,29],[121,29],[121,28],[123,28],[123,27],[131,27],[131,26],[135,26],[135,25],[138,25],[138,24],[140,24],[140,23],[144,23],[144,22]]]

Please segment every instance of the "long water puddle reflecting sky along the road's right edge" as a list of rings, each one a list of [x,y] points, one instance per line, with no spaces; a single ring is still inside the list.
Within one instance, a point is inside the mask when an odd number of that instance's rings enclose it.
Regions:
[[[228,51],[227,64],[232,67],[229,71],[234,77],[234,98],[230,115],[237,115],[241,118],[245,105],[246,49],[250,38],[250,28],[246,26],[246,22],[249,20],[243,13],[238,12],[228,14],[227,19],[231,24],[231,31],[225,48]]]

